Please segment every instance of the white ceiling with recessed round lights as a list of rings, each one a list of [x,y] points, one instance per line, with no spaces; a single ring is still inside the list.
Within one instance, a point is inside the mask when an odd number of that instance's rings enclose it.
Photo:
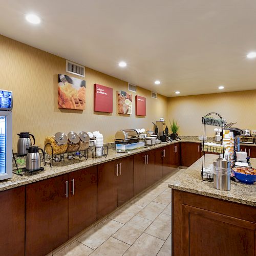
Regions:
[[[256,89],[255,0],[0,0],[0,10],[0,34],[166,96]]]

